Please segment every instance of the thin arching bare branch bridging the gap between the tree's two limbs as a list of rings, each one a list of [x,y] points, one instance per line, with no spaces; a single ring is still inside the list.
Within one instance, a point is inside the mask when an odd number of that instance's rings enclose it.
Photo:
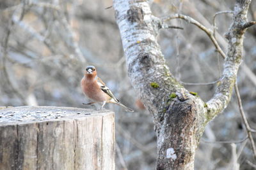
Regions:
[[[207,29],[207,27],[205,27],[204,25],[200,24],[200,22],[198,22],[197,20],[187,16],[187,15],[183,15],[183,14],[179,14],[179,13],[176,13],[174,15],[169,15],[167,17],[164,17],[161,19],[161,22],[166,22],[168,20],[172,20],[174,18],[180,18],[182,20],[186,20],[186,22],[189,22],[191,24],[194,24],[196,25],[198,28],[202,29],[202,31],[204,31],[207,36],[209,36],[209,38],[211,39],[212,43],[214,44],[214,46],[216,47],[217,51],[220,53],[220,55],[223,57],[223,58],[226,58],[226,55],[225,53],[223,52],[223,50],[221,49],[220,45],[218,44],[218,42],[216,41],[216,39],[214,38],[213,36],[213,33],[210,29]]]

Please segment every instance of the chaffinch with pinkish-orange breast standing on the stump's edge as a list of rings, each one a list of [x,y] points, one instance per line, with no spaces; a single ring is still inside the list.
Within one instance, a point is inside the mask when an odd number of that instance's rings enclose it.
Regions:
[[[109,90],[106,84],[97,76],[97,71],[94,66],[86,67],[84,76],[81,80],[81,89],[84,96],[92,100],[91,103],[86,104],[102,103],[102,106],[100,107],[100,110],[102,110],[106,103],[114,103],[122,106],[125,111],[134,112],[134,110],[128,108],[116,99],[111,90]]]

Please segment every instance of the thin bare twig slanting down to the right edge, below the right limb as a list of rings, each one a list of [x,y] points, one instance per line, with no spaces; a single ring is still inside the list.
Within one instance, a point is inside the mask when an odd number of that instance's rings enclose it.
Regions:
[[[235,90],[236,90],[236,96],[237,96],[239,111],[240,111],[241,116],[243,118],[243,122],[244,122],[244,125],[246,127],[247,134],[248,134],[248,138],[250,139],[250,142],[251,142],[251,145],[252,145],[253,155],[256,159],[256,147],[255,147],[255,143],[254,143],[253,137],[252,137],[252,130],[251,130],[250,125],[248,124],[248,121],[247,121],[247,119],[245,117],[245,114],[244,114],[243,105],[242,105],[241,97],[240,97],[239,90],[238,90],[238,87],[237,87],[237,83],[235,83]]]

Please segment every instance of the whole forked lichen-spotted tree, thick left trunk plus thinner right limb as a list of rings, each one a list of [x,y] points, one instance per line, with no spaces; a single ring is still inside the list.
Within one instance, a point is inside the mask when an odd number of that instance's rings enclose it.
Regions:
[[[194,169],[195,151],[205,125],[230,101],[241,62],[245,29],[240,24],[247,22],[249,4],[250,1],[236,1],[220,85],[214,97],[204,103],[170,73],[157,43],[163,23],[152,15],[148,1],[113,1],[131,83],[154,118],[156,169]]]

